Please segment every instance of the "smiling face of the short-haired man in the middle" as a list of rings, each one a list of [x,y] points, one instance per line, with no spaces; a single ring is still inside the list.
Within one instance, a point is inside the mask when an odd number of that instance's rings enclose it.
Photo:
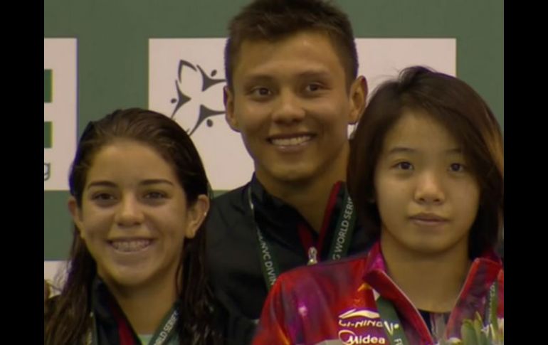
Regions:
[[[265,186],[344,176],[347,126],[367,91],[348,86],[330,38],[302,31],[278,41],[244,41],[226,89],[226,117],[241,132]]]

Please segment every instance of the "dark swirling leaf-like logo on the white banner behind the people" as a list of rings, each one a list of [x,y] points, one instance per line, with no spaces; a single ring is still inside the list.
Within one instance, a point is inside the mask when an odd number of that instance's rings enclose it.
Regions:
[[[224,78],[214,78],[217,74],[217,70],[211,70],[211,72],[206,73],[204,68],[201,67],[199,64],[192,64],[189,61],[186,60],[179,60],[179,67],[177,68],[177,78],[175,80],[175,87],[177,92],[177,98],[173,98],[171,100],[172,104],[175,105],[174,110],[172,112],[172,119],[176,119],[176,117],[182,116],[181,120],[182,122],[189,124],[191,121],[191,117],[196,117],[196,110],[198,113],[198,117],[196,118],[194,124],[190,124],[186,127],[186,132],[189,133],[189,135],[192,135],[194,132],[196,132],[196,129],[200,127],[200,125],[205,121],[208,127],[213,126],[213,121],[211,121],[210,117],[214,117],[216,115],[223,115],[225,113],[224,110],[216,110],[211,109],[207,107],[204,104],[195,105],[193,109],[190,107],[184,107],[184,105],[187,105],[191,100],[193,100],[194,97],[197,95],[189,95],[186,94],[183,90],[184,87],[182,87],[184,78],[188,78],[187,75],[194,73],[201,75],[201,92],[205,92],[206,90],[209,90],[209,88],[213,87],[214,85],[218,85],[220,83],[226,82],[226,79]],[[194,90],[193,90],[194,91]],[[196,90],[196,92],[200,92],[199,90]],[[221,97],[221,95],[216,95],[216,97]],[[199,101],[198,101],[199,102]],[[196,109],[198,107],[198,109]],[[188,108],[188,109],[187,109]],[[181,114],[182,112],[182,114]]]

